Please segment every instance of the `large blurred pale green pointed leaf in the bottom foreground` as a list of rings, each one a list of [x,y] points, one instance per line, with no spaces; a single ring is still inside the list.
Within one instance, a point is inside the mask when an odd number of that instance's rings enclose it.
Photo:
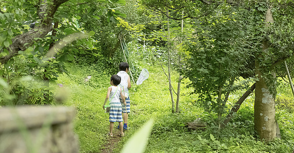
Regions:
[[[129,152],[144,152],[145,146],[148,143],[148,138],[151,133],[151,129],[153,126],[153,119],[150,119],[144,126],[137,131],[125,144],[122,153],[129,153]]]

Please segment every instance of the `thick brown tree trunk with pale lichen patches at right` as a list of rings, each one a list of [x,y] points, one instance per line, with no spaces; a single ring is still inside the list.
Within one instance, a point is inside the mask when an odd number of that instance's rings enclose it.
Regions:
[[[265,26],[269,26],[268,23],[273,21],[273,14],[270,8],[268,8],[265,16]],[[268,41],[264,40],[262,42],[262,52],[266,52],[268,47]],[[275,98],[269,92],[269,88],[262,77],[264,75],[262,67],[260,67],[259,58],[262,58],[262,56],[256,56],[255,60],[255,74],[259,80],[256,82],[255,89],[254,129],[258,132],[261,140],[268,142],[276,137]]]

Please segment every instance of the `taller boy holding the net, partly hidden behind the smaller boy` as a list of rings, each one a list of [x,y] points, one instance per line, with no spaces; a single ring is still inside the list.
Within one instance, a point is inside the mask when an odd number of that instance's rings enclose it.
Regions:
[[[131,88],[131,80],[128,74],[129,64],[126,62],[120,63],[120,71],[118,75],[121,77],[120,87],[123,89],[123,95],[121,99],[125,99],[126,105],[122,103],[123,110],[123,119],[124,119],[124,130],[128,130],[128,113],[130,112],[130,97],[129,97],[129,89]],[[124,97],[124,98],[123,98]],[[120,125],[118,126],[119,129]]]

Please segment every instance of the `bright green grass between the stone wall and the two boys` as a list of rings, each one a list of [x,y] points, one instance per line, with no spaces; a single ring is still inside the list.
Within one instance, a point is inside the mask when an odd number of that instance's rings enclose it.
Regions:
[[[109,122],[102,105],[106,96],[109,78],[100,75],[92,69],[92,78],[84,82],[90,75],[86,73],[87,67],[69,64],[69,73],[59,77],[58,83],[63,84],[70,92],[70,98],[64,105],[74,106],[77,109],[75,119],[75,132],[79,137],[81,152],[99,152],[101,146],[107,141]],[[96,84],[97,87],[95,87]]]

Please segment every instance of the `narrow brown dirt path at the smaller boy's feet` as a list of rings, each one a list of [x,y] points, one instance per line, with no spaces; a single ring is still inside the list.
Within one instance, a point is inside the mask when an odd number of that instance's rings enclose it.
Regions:
[[[114,131],[112,131],[113,137],[107,136],[109,137],[107,140],[108,142],[102,146],[101,153],[112,152],[117,147],[117,143],[121,140],[119,133],[119,130],[114,129]]]

